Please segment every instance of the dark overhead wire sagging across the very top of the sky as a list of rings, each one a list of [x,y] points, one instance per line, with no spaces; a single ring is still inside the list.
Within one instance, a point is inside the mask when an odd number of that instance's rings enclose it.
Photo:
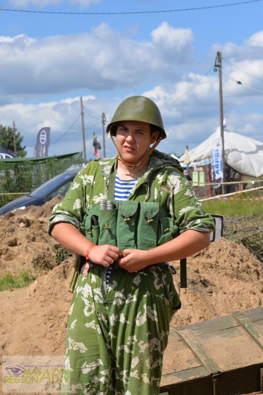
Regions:
[[[160,11],[127,11],[127,12],[65,12],[65,11],[33,11],[33,10],[12,10],[10,8],[0,8],[0,11],[11,11],[11,12],[29,12],[36,14],[64,14],[64,15],[127,15],[127,14],[154,14],[154,13],[164,13],[164,12],[181,12],[181,11],[196,11],[196,10],[206,10],[212,8],[222,8],[222,7],[230,7],[237,6],[240,4],[248,4],[248,3],[256,3],[261,2],[262,0],[249,0],[246,2],[238,2],[238,3],[230,3],[230,4],[221,4],[216,6],[205,6],[205,7],[193,7],[193,8],[180,8],[175,10],[160,10]]]

